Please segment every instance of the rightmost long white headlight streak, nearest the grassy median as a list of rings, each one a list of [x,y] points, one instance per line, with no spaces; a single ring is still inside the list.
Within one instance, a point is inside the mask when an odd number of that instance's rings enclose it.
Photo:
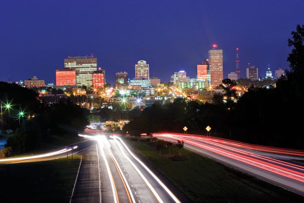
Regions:
[[[130,151],[130,149],[127,147],[127,145],[122,141],[122,139],[121,138],[119,138],[119,137],[116,137],[116,136],[111,136],[111,137],[113,137],[115,140],[119,140],[123,145],[124,145],[124,147],[127,149],[127,151],[130,153],[130,155],[131,156],[133,156],[133,158],[134,159],[136,159],[136,161],[138,162],[138,163],[140,163],[140,165],[142,165],[147,171],[148,171],[148,173],[150,173],[150,175],[152,176],[152,177],[154,177],[154,179],[161,185],[161,187],[163,187],[164,188],[164,190],[170,195],[170,197],[175,201],[175,202],[178,202],[178,203],[180,203],[181,201],[179,201],[178,200],[178,198],[177,197],[175,197],[175,195],[168,189],[168,187],[167,186],[165,186],[164,184],[163,184],[163,182],[161,182],[161,180],[159,180],[158,179],[158,177],[142,162],[142,161],[140,161],[140,159],[138,159],[134,154],[133,154],[133,152],[131,152]],[[118,145],[119,146],[119,148],[121,149],[121,147],[120,147],[120,145]],[[121,152],[123,152],[123,150],[121,150]],[[125,157],[128,159],[128,161],[130,160],[127,156],[126,156],[126,154],[123,152],[123,154],[125,155]],[[130,160],[129,161],[132,165],[134,165],[134,163]],[[134,167],[134,166],[133,166]],[[137,168],[137,167],[136,167]]]

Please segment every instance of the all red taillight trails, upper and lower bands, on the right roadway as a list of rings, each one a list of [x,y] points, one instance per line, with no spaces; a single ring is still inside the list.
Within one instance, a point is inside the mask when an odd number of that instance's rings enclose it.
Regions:
[[[202,135],[184,135],[184,134],[169,134],[169,133],[154,133],[158,138],[171,138],[184,140],[185,144],[216,153],[230,159],[237,160],[241,163],[246,163],[251,166],[276,173],[284,177],[304,183],[304,167],[274,159],[268,156],[258,154],[259,152],[272,152],[283,155],[304,156],[303,151],[267,147],[261,145],[251,145],[243,142],[236,142],[227,139],[207,137]],[[248,151],[256,150],[254,151]],[[275,154],[273,154],[275,155]]]

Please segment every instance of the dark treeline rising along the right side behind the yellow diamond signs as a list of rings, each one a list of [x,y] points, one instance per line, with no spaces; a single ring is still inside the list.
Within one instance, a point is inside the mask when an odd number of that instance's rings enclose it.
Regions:
[[[225,138],[304,149],[303,41],[304,25],[298,25],[292,32],[292,39],[288,40],[288,46],[293,47],[287,58],[291,70],[278,79],[276,88],[251,86],[235,103],[233,100],[237,96],[231,87],[236,84],[225,79],[225,93],[214,95],[212,104],[182,98],[163,107],[154,104],[145,108],[124,130],[136,135],[143,132],[183,132],[182,128],[187,126],[189,133],[206,135],[205,128],[209,125],[212,133],[216,129]]]

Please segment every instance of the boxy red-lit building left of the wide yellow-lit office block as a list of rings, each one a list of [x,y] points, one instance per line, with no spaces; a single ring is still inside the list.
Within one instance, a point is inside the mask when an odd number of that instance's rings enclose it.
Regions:
[[[76,70],[74,68],[56,70],[56,86],[76,85]]]

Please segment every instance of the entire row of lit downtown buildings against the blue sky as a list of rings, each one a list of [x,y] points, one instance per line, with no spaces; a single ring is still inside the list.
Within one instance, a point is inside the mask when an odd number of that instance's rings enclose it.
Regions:
[[[236,71],[230,72],[228,78],[231,80],[240,79],[240,60],[239,48],[236,48]],[[249,66],[249,64],[248,64]],[[105,70],[97,68],[97,58],[91,56],[69,56],[64,59],[64,68],[56,69],[56,86],[88,86],[95,88],[105,87]],[[161,83],[157,77],[150,77],[150,65],[146,61],[140,60],[135,64],[135,77],[128,78],[128,72],[117,72],[115,74],[115,86],[122,89],[128,89],[125,86],[141,86],[142,88],[155,87]],[[258,68],[249,66],[246,68],[246,78],[251,80],[277,79],[281,75],[285,75],[282,68],[275,70],[275,77],[269,76],[259,78]],[[270,71],[271,72],[271,71]],[[175,87],[202,89],[206,87],[217,87],[222,83],[223,77],[223,50],[217,49],[217,45],[213,44],[212,49],[208,51],[208,58],[205,62],[196,66],[196,78],[187,77],[184,70],[174,72],[171,75],[170,82]],[[154,74],[153,74],[154,75]],[[32,79],[28,79],[29,81]],[[35,80],[35,79],[33,79]],[[33,85],[32,85],[33,83]],[[27,86],[35,86],[35,82],[24,83]],[[41,85],[41,83],[40,83]],[[49,84],[53,85],[54,84]]]

